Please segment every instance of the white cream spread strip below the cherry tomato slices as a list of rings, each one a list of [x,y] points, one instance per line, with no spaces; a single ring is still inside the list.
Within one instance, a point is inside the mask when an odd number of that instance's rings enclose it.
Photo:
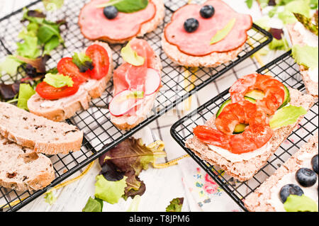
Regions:
[[[42,108],[52,108],[53,106],[64,106],[65,103],[69,103],[70,100],[73,100],[74,98],[78,98],[78,97],[83,96],[86,91],[91,89],[91,87],[96,84],[97,81],[98,80],[96,80],[96,79],[89,79],[84,84],[81,84],[79,86],[79,90],[77,91],[76,94],[74,94],[72,96],[67,96],[67,97],[64,97],[64,98],[60,98],[60,99],[54,100],[54,101],[46,100],[46,101],[44,101],[43,103],[40,104],[40,107],[42,107]]]

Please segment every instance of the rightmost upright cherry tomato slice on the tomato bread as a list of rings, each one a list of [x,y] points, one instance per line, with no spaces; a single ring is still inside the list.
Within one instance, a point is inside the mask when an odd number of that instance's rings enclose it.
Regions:
[[[93,61],[94,69],[88,70],[91,79],[101,79],[108,74],[110,60],[108,52],[101,45],[90,45],[85,54]]]

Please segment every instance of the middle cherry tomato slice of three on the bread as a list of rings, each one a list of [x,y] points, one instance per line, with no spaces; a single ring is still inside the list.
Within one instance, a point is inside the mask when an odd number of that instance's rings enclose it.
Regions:
[[[71,57],[65,57],[57,63],[57,71],[60,74],[71,77],[73,81],[78,81],[79,84],[84,83],[87,79],[89,79],[89,73],[80,72],[74,62],[72,62]]]

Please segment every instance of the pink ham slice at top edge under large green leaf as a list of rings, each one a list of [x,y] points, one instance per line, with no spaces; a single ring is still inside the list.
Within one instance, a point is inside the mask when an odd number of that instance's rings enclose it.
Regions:
[[[96,8],[109,0],[92,0],[86,4],[79,15],[79,26],[82,34],[90,40],[108,38],[110,40],[126,40],[140,33],[143,23],[151,21],[156,14],[156,6],[149,2],[145,9],[135,13],[121,13],[113,19],[103,14],[103,8]]]

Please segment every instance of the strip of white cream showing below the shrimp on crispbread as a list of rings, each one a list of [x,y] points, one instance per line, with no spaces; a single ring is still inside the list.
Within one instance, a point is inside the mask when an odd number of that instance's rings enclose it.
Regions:
[[[267,142],[266,145],[263,147],[260,147],[259,149],[255,149],[252,152],[247,152],[247,153],[242,153],[242,154],[234,154],[227,149],[223,149],[221,147],[213,146],[213,145],[208,145],[209,149],[212,151],[220,154],[222,157],[227,159],[230,162],[242,162],[243,160],[249,160],[254,157],[257,157],[259,155],[264,154],[264,152],[267,152],[269,149],[272,148],[272,145],[270,142]]]

